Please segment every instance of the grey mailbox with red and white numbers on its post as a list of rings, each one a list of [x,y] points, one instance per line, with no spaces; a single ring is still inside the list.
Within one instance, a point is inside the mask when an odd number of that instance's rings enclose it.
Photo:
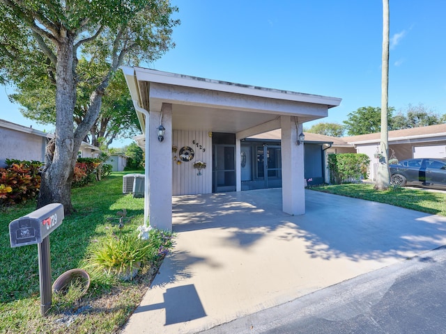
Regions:
[[[63,218],[63,205],[52,203],[15,219],[9,224],[11,247],[38,245],[40,314],[42,316],[47,315],[52,303],[49,234],[61,225]]]

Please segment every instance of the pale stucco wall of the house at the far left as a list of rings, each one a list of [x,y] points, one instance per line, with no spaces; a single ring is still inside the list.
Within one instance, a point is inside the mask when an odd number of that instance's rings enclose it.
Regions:
[[[6,159],[45,161],[47,138],[6,127],[0,127],[0,138],[0,167]]]

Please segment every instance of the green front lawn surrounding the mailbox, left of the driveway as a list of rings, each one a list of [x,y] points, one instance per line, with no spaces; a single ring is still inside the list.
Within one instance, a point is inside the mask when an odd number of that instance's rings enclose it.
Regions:
[[[129,172],[130,173],[130,172]],[[77,212],[63,220],[49,236],[52,281],[68,269],[84,266],[89,249],[117,227],[107,218],[127,209],[132,216],[123,232],[136,230],[144,221],[144,198],[122,193],[125,173],[73,189]],[[156,266],[144,275],[123,283],[105,275],[91,277],[89,292],[81,301],[53,295],[49,315],[40,317],[37,245],[10,248],[8,224],[29,214],[35,203],[0,211],[0,333],[114,333],[139,305]]]

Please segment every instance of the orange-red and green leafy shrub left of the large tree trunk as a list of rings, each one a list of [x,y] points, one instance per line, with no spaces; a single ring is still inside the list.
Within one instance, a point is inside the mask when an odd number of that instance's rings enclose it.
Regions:
[[[14,205],[37,197],[40,189],[40,161],[6,159],[0,168],[0,205]]]

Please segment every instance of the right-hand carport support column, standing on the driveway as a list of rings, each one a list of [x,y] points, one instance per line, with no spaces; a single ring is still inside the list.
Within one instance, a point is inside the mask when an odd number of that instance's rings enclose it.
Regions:
[[[294,116],[281,116],[282,208],[287,214],[305,214],[304,145],[297,145],[302,123]]]

